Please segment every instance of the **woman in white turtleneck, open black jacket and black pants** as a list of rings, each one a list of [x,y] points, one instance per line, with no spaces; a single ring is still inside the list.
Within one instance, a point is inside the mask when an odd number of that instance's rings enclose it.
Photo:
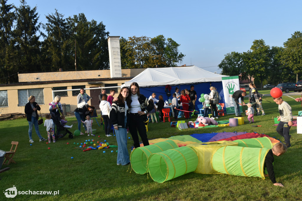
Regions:
[[[140,87],[136,82],[130,85],[130,116],[129,116],[129,131],[134,141],[134,148],[140,147],[140,141],[137,135],[137,131],[140,134],[140,138],[143,141],[144,146],[149,145],[147,138],[145,122],[147,121],[147,113],[149,113],[154,104],[150,103],[148,98],[140,94]]]

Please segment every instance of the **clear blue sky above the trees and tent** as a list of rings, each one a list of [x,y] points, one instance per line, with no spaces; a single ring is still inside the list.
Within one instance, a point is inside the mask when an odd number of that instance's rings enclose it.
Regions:
[[[16,6],[17,0],[8,0]],[[40,22],[55,12],[65,18],[84,13],[87,20],[103,22],[110,36],[164,35],[185,54],[178,65],[196,65],[218,73],[217,65],[232,51],[246,52],[254,40],[283,46],[295,31],[302,31],[302,1],[79,1],[27,0],[37,6]],[[215,67],[216,66],[216,67]]]

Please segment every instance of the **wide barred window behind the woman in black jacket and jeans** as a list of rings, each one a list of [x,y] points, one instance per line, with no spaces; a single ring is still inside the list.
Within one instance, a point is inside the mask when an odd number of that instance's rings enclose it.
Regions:
[[[18,89],[18,106],[24,106],[28,103],[28,97],[33,95],[36,97],[38,104],[44,104],[43,88],[37,89]]]

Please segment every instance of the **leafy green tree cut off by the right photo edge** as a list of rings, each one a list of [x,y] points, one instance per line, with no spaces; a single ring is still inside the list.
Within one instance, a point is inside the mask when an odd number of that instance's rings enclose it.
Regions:
[[[290,67],[296,74],[296,82],[298,81],[298,74],[302,72],[302,33],[296,31],[291,34],[284,45],[284,51],[281,56],[282,63]]]

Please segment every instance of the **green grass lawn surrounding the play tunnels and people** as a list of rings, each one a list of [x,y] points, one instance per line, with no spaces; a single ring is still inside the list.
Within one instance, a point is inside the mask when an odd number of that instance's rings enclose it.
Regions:
[[[294,96],[298,97],[298,96]],[[299,96],[300,97],[300,96]],[[265,99],[272,101],[271,97]],[[284,97],[297,115],[301,110],[301,102]],[[210,132],[258,132],[281,141],[284,139],[276,133],[272,117],[277,117],[278,105],[263,101],[265,116],[255,116],[252,127],[244,124],[237,127],[216,127],[203,129],[185,129],[183,131],[170,127],[170,123],[149,123],[149,139],[168,138],[176,135],[191,135],[193,133]],[[222,116],[219,120],[228,120],[234,115]],[[67,125],[77,129],[75,117],[68,118]],[[191,119],[193,120],[193,118]],[[188,121],[188,120],[187,120]],[[247,123],[247,117],[245,117]],[[8,165],[11,169],[0,174],[0,190],[15,186],[18,191],[58,191],[59,195],[17,195],[14,200],[301,200],[302,176],[301,134],[297,127],[292,127],[290,134],[292,147],[280,157],[275,156],[275,176],[277,182],[283,183],[284,188],[274,186],[269,179],[259,177],[239,177],[226,174],[210,175],[188,173],[164,183],[156,183],[147,175],[136,174],[128,166],[117,166],[117,148],[91,150],[83,152],[79,145],[87,139],[117,145],[114,136],[105,137],[103,127],[93,123],[97,129],[95,137],[77,136],[69,139],[65,136],[56,143],[39,142],[33,131],[30,146],[28,138],[28,122],[26,119],[0,122],[0,149],[8,151],[11,141],[18,141],[19,146],[14,160],[17,164]],[[83,130],[83,129],[82,129]],[[47,137],[46,129],[40,125],[40,132]],[[100,135],[101,137],[97,137]],[[131,137],[128,134],[128,137]],[[69,144],[66,144],[69,142]],[[133,145],[128,139],[128,148]],[[50,149],[48,149],[50,147]],[[111,153],[110,151],[114,152]],[[74,159],[71,159],[74,157]],[[2,168],[7,167],[3,165]],[[0,200],[9,200],[4,193]]]

